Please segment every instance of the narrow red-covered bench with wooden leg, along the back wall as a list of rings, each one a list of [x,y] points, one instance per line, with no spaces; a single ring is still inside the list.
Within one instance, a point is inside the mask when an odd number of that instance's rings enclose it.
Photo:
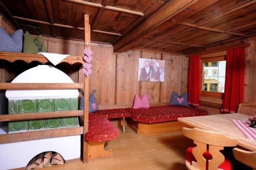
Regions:
[[[104,109],[94,112],[95,114],[102,114],[106,118],[118,118],[118,127],[125,133],[125,126],[127,126],[125,117],[131,117],[131,113],[126,109]]]

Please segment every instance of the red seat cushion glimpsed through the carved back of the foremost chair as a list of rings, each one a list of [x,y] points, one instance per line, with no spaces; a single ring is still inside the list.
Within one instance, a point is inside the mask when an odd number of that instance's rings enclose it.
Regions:
[[[194,147],[189,147],[186,150],[186,160],[188,162],[197,162],[196,158],[194,157],[192,150]],[[211,154],[209,153],[209,151],[206,151],[205,153],[203,153],[203,157],[208,161],[210,159],[212,159]],[[224,162],[219,166],[219,168],[223,169],[223,170],[232,170],[232,166],[231,166],[231,162],[228,159],[225,159]],[[206,168],[207,169],[207,168]]]

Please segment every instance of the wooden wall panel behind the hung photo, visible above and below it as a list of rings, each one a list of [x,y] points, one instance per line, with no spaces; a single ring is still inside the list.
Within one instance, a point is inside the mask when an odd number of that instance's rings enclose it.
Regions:
[[[141,58],[161,60],[162,56],[159,53],[142,51]],[[137,79],[138,79],[138,76],[137,76]],[[159,103],[160,102],[160,82],[140,81],[140,96],[142,96],[143,94],[147,94],[147,98],[150,103]]]

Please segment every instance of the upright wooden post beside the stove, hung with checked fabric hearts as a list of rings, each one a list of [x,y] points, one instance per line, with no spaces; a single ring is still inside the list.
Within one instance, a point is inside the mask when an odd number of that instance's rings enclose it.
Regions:
[[[84,49],[86,45],[90,45],[90,25],[89,15],[84,14]],[[91,48],[90,46],[88,46]],[[83,122],[83,163],[88,162],[88,143],[85,140],[86,132],[88,132],[88,119],[89,119],[89,76],[84,77],[84,122]]]

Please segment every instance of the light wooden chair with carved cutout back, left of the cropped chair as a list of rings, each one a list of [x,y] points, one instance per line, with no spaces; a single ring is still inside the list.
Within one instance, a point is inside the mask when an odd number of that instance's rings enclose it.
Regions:
[[[210,125],[209,125],[210,126]],[[194,162],[189,162],[187,158],[189,153],[186,153],[186,166],[189,170],[218,170],[219,166],[225,170],[231,169],[231,163],[225,162],[224,155],[220,152],[224,147],[234,147],[238,144],[238,139],[231,138],[218,132],[205,131],[201,129],[182,128],[184,136],[193,139],[197,147],[191,149],[191,156],[194,156]],[[188,151],[188,150],[187,150]],[[192,155],[193,154],[193,155]],[[192,165],[192,164],[193,165]],[[208,167],[208,168],[207,168]]]

